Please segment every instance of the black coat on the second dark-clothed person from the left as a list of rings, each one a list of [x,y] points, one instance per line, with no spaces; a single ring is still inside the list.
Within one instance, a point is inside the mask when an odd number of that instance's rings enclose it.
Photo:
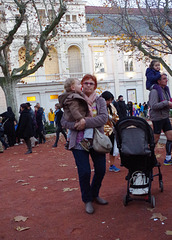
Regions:
[[[17,133],[21,138],[33,137],[33,122],[29,113],[29,109],[24,109],[21,112]]]

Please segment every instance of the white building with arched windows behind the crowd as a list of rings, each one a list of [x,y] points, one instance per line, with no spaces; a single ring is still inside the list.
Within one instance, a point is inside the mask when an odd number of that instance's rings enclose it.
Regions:
[[[43,15],[44,10],[40,8]],[[5,11],[10,16],[10,11]],[[148,100],[149,92],[145,88],[146,66],[134,56],[119,52],[115,42],[105,45],[107,37],[94,36],[86,23],[86,19],[94,14],[94,8],[87,7],[86,1],[70,3],[64,16],[69,33],[52,42],[50,54],[42,68],[23,79],[25,83],[17,84],[18,106],[23,102],[30,102],[32,106],[39,102],[48,114],[49,109],[54,109],[54,104],[58,102],[58,95],[63,92],[65,79],[81,79],[86,73],[96,75],[100,93],[109,90],[115,98],[121,94],[126,102],[143,103]],[[23,31],[11,49],[11,56],[18,66],[22,61],[19,56],[24,52],[20,41]],[[168,63],[172,62],[170,57],[166,57]],[[169,82],[172,87],[172,81]],[[0,89],[0,112],[5,109],[4,94]]]

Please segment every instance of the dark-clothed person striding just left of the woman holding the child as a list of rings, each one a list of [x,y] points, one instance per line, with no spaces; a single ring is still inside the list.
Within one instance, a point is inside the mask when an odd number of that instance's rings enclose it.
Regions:
[[[65,130],[62,128],[62,125],[61,125],[61,118],[63,116],[63,111],[60,108],[60,104],[56,103],[55,109],[56,110],[55,110],[55,120],[54,121],[55,121],[57,130],[56,130],[56,141],[55,141],[53,147],[57,147],[60,133],[62,133],[63,136],[65,137],[65,139],[67,140],[67,135],[65,133]]]

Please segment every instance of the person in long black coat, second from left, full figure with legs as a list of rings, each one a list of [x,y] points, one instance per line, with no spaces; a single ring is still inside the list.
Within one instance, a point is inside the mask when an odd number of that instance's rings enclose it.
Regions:
[[[33,123],[32,118],[27,109],[27,105],[25,103],[20,105],[21,115],[19,118],[19,124],[17,128],[18,136],[25,140],[28,151],[25,154],[32,153],[32,146],[30,138],[33,137]]]

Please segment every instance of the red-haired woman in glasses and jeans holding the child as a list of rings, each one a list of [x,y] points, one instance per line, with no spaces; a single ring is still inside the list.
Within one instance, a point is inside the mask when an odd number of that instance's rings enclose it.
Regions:
[[[92,214],[94,212],[92,201],[101,205],[108,204],[106,200],[99,197],[99,190],[106,171],[106,158],[105,154],[95,152],[93,148],[90,148],[89,151],[85,150],[80,143],[85,138],[85,129],[98,128],[99,131],[104,132],[103,128],[107,122],[108,113],[105,100],[97,96],[95,92],[97,88],[96,77],[90,74],[85,75],[81,81],[81,85],[83,90],[81,94],[88,103],[90,114],[75,122],[67,121],[64,115],[62,125],[70,129],[69,149],[72,150],[78,169],[82,201],[85,203],[86,212]],[[72,89],[75,92],[73,87]],[[94,164],[94,176],[91,184],[89,155]]]

